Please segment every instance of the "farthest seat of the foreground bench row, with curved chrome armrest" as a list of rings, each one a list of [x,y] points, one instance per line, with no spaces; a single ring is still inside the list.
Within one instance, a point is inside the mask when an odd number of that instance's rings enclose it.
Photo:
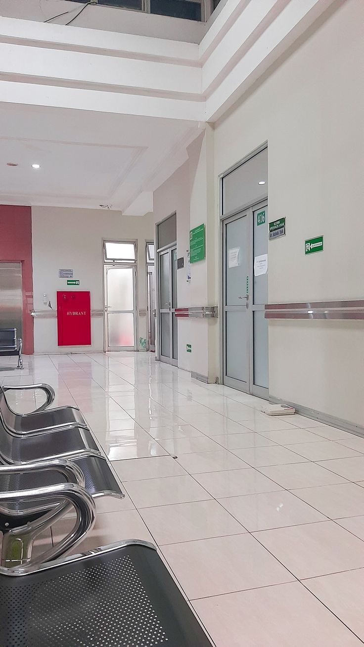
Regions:
[[[24,391],[29,389],[42,389],[47,395],[44,404],[41,404],[32,413],[16,413],[10,408],[6,400],[6,391]],[[0,386],[0,415],[5,427],[12,433],[23,435],[30,433],[45,433],[53,429],[65,427],[88,428],[80,409],[72,406],[47,407],[54,401],[54,389],[48,384],[26,384],[21,386]]]

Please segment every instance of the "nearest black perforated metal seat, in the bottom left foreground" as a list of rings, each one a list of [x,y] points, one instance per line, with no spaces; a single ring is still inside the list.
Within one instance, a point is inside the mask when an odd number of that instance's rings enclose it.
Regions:
[[[30,567],[29,567],[30,568]],[[0,569],[1,647],[211,647],[153,545]]]

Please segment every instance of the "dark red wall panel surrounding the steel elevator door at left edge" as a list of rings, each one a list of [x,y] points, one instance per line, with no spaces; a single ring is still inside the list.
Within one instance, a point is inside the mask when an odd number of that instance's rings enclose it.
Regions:
[[[30,206],[0,204],[0,261],[21,262],[23,280],[23,353],[34,352],[32,210]]]

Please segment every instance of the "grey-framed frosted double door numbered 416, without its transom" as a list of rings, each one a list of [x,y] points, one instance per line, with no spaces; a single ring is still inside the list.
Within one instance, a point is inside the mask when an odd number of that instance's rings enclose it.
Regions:
[[[223,380],[268,397],[268,206],[223,221]]]

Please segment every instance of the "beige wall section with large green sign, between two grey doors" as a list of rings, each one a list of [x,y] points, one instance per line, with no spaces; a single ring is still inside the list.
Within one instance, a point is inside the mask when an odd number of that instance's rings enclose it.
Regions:
[[[177,213],[177,256],[184,257],[184,269],[177,271],[178,307],[217,305],[213,177],[213,131],[208,126],[187,149],[187,161],[154,193],[156,223]],[[187,283],[189,230],[202,223],[206,225],[206,259],[191,264]],[[178,366],[215,382],[217,334],[217,320],[180,318]],[[191,353],[186,344],[191,344]]]

